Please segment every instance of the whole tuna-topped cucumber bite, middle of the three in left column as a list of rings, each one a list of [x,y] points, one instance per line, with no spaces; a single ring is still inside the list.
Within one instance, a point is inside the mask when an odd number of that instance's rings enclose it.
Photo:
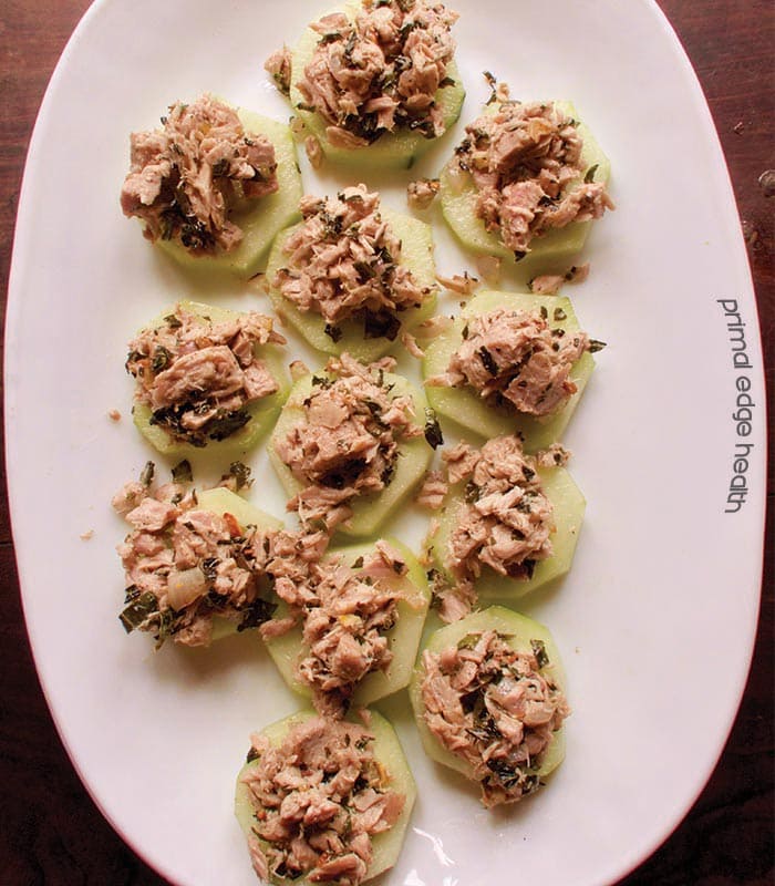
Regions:
[[[246,451],[269,430],[288,393],[271,318],[180,301],[131,342],[134,422],[159,452]]]

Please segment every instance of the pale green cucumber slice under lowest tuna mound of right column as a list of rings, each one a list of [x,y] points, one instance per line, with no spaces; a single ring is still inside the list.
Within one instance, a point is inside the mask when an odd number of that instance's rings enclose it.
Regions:
[[[483,631],[496,630],[503,635],[506,642],[518,652],[530,652],[530,640],[540,640],[544,643],[548,664],[540,668],[540,673],[549,681],[555,683],[565,692],[565,671],[560,659],[559,650],[548,629],[538,621],[534,621],[527,616],[513,612],[503,606],[492,606],[478,612],[472,612],[461,621],[455,621],[435,631],[427,639],[423,651],[428,650],[436,655],[444,649],[456,647],[457,643],[469,633],[480,633]],[[467,779],[474,777],[471,765],[447,750],[442,742],[431,732],[425,722],[425,705],[422,697],[422,682],[425,677],[425,668],[420,657],[417,667],[414,669],[412,682],[410,683],[409,694],[417,722],[417,730],[423,742],[425,753],[443,766],[454,769]],[[551,744],[547,748],[541,761],[538,775],[544,779],[552,772],[565,759],[565,734],[564,729],[554,733]]]

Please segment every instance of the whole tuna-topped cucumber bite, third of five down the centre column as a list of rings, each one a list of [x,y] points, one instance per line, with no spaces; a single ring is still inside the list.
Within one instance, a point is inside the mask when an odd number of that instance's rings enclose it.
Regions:
[[[425,398],[394,368],[343,353],[293,385],[269,457],[302,525],[373,535],[425,473]]]

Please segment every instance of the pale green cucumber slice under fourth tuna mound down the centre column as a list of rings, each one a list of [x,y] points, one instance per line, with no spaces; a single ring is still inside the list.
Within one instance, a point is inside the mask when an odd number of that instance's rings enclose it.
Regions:
[[[410,600],[401,600],[397,604],[399,619],[386,635],[393,659],[386,671],[374,671],[368,674],[360,683],[352,697],[352,703],[356,707],[365,707],[375,701],[397,692],[409,684],[412,677],[412,667],[417,656],[417,647],[425,624],[425,616],[431,602],[431,591],[427,587],[425,570],[417,563],[417,558],[401,542],[394,538],[386,539],[404,558],[407,566],[406,584],[407,591],[411,594]],[[355,545],[352,547],[331,550],[326,559],[332,556],[341,556],[343,563],[353,566],[359,557],[364,557],[371,553],[373,545]],[[281,605],[276,618],[286,615],[287,606]],[[302,626],[299,625],[288,633],[267,640],[267,649],[275,660],[280,673],[288,686],[306,698],[311,697],[311,691],[307,683],[298,679],[296,666],[309,653],[309,647],[302,639]]]

